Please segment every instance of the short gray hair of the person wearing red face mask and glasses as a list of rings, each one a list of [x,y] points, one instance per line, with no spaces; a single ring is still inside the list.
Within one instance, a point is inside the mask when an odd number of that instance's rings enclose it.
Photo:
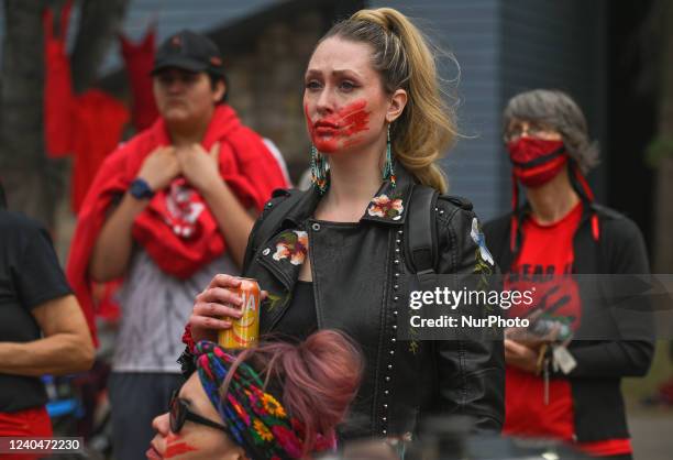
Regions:
[[[570,156],[587,173],[599,162],[597,142],[588,138],[586,118],[580,106],[556,89],[533,89],[521,92],[507,102],[503,113],[503,131],[514,120],[539,121],[561,133]]]

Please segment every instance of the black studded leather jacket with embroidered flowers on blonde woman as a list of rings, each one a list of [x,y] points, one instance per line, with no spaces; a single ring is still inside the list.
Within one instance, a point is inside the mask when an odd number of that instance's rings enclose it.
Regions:
[[[318,327],[346,332],[365,357],[363,383],[344,437],[413,434],[419,418],[429,413],[472,416],[477,429],[499,430],[503,425],[501,341],[397,339],[397,315],[408,308],[400,300],[404,286],[413,274],[404,241],[413,186],[418,185],[411,176],[398,171],[397,186],[384,183],[376,194],[378,204],[373,200],[355,223],[316,220],[320,196],[308,190],[268,238],[260,238],[261,222],[287,199],[288,194],[279,191],[249,240],[243,275],[269,292],[261,314],[261,332],[267,333],[283,332],[276,325],[290,304],[302,258],[301,247],[293,242],[308,237]],[[479,252],[471,238],[474,218],[466,200],[440,197],[434,209],[437,273],[474,271]]]

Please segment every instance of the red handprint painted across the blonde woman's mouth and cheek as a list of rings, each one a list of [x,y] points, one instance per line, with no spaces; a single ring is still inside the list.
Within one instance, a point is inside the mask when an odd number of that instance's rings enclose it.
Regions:
[[[306,122],[316,149],[322,153],[334,153],[339,149],[356,145],[355,134],[368,130],[369,112],[366,100],[358,100],[326,117],[312,121],[308,106],[304,107]]]

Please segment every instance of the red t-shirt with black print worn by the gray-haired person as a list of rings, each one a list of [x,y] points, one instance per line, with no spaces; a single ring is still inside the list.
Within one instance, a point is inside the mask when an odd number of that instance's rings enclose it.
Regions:
[[[582,218],[582,204],[551,224],[541,224],[530,217],[523,221],[523,242],[510,272],[508,284],[518,289],[534,286],[532,307],[576,329],[581,321],[577,286],[571,277],[574,252],[573,237]],[[520,305],[509,311],[525,317],[531,306]],[[507,366],[504,432],[516,436],[556,438],[574,441],[575,424],[571,383],[567,379],[550,379],[549,401],[544,401],[542,376]],[[629,439],[584,442],[581,449],[596,456],[631,452]]]

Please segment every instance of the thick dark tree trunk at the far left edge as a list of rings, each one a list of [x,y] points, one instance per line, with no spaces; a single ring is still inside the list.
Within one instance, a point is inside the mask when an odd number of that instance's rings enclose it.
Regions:
[[[62,165],[47,161],[43,139],[44,0],[7,0],[0,107],[0,177],[10,209],[47,227],[63,189]]]

